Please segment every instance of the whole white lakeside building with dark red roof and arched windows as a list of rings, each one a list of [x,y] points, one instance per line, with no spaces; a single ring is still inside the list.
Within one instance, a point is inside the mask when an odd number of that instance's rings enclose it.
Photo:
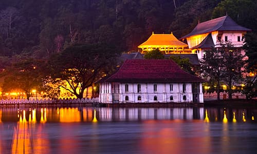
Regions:
[[[100,103],[203,103],[203,79],[172,60],[126,60],[100,81]]]

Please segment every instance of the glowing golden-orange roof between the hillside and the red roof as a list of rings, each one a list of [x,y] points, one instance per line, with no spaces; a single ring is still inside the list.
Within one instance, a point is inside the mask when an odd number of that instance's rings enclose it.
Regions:
[[[138,48],[145,46],[187,47],[188,45],[179,41],[172,32],[171,34],[155,34],[153,32],[148,40],[139,45]]]

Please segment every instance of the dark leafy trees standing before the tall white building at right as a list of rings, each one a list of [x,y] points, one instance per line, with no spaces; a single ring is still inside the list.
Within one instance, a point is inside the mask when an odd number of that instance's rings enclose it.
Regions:
[[[231,43],[221,45],[221,48],[213,48],[207,51],[204,59],[200,60],[200,73],[207,80],[217,82],[217,93],[219,93],[220,82],[225,82],[228,85],[229,99],[232,99],[233,85],[235,83],[241,83],[243,79],[244,71],[242,68],[245,65],[244,56]]]

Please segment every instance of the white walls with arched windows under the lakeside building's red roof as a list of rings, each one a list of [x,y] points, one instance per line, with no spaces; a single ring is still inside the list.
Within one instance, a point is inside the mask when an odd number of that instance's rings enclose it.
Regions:
[[[125,91],[125,84],[128,85],[128,91]],[[138,84],[141,85],[140,92],[137,92]],[[157,91],[154,91],[154,84],[157,85]],[[172,91],[170,91],[170,84],[173,85]],[[119,103],[193,102],[192,84],[185,84],[186,90],[185,92],[183,92],[183,83],[120,83]],[[112,93],[110,85],[110,83],[101,84],[99,94],[101,103],[112,103]],[[203,93],[201,92],[201,90],[200,93],[201,95],[199,95],[199,101],[203,103],[204,99],[201,98],[203,97]],[[186,100],[183,100],[184,95],[186,96]],[[128,97],[128,100],[125,100],[126,96]],[[141,97],[141,100],[138,100],[138,96]],[[154,100],[154,96],[157,97],[157,100]],[[170,100],[171,96],[173,96],[173,100]]]

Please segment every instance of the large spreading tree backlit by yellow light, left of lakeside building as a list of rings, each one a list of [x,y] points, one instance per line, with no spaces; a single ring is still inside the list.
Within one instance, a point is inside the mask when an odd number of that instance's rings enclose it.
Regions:
[[[83,98],[84,90],[116,66],[117,50],[106,44],[75,44],[49,60],[52,83],[65,82],[61,87]]]

